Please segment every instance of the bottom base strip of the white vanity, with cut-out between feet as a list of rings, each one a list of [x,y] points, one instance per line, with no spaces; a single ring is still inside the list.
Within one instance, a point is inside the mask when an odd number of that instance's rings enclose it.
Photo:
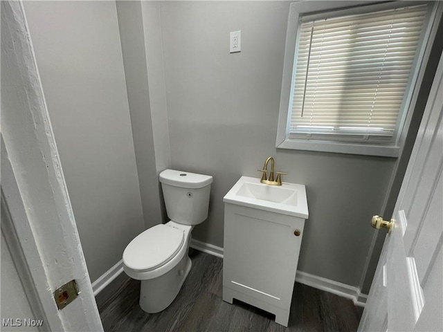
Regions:
[[[251,306],[256,306],[268,313],[272,313],[275,315],[275,322],[277,324],[283,325],[285,327],[288,326],[289,322],[289,308],[279,308],[278,306],[273,306],[272,304],[261,301],[260,299],[256,299],[250,295],[246,295],[244,293],[240,293],[239,291],[234,291],[233,289],[223,286],[223,300],[224,302],[228,302],[233,304],[233,299],[238,299],[247,304],[251,304]]]

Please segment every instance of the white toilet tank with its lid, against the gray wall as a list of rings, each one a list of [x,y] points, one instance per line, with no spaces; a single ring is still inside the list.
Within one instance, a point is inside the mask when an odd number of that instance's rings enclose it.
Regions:
[[[212,176],[165,169],[160,182],[169,219],[197,225],[208,218]]]

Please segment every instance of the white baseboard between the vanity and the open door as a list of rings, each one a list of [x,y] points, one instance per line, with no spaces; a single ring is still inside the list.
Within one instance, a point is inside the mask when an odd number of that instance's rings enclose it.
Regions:
[[[347,299],[352,299],[356,306],[365,306],[368,295],[361,294],[360,288],[334,282],[334,280],[318,277],[302,271],[297,271],[296,282],[311,286],[321,291],[329,292]]]

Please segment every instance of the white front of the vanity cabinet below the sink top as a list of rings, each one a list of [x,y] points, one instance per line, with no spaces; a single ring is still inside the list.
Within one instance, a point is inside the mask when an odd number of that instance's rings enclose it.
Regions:
[[[224,301],[257,306],[287,326],[305,219],[230,203],[224,219]]]

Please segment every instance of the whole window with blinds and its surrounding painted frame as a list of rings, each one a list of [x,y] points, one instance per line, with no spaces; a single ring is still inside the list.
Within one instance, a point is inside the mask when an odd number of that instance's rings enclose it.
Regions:
[[[282,84],[290,89],[282,91],[278,147],[398,154],[431,12],[429,3],[407,5],[296,12],[289,24],[296,33],[287,36],[295,43],[290,85]],[[292,6],[302,5],[291,5],[294,16]]]

